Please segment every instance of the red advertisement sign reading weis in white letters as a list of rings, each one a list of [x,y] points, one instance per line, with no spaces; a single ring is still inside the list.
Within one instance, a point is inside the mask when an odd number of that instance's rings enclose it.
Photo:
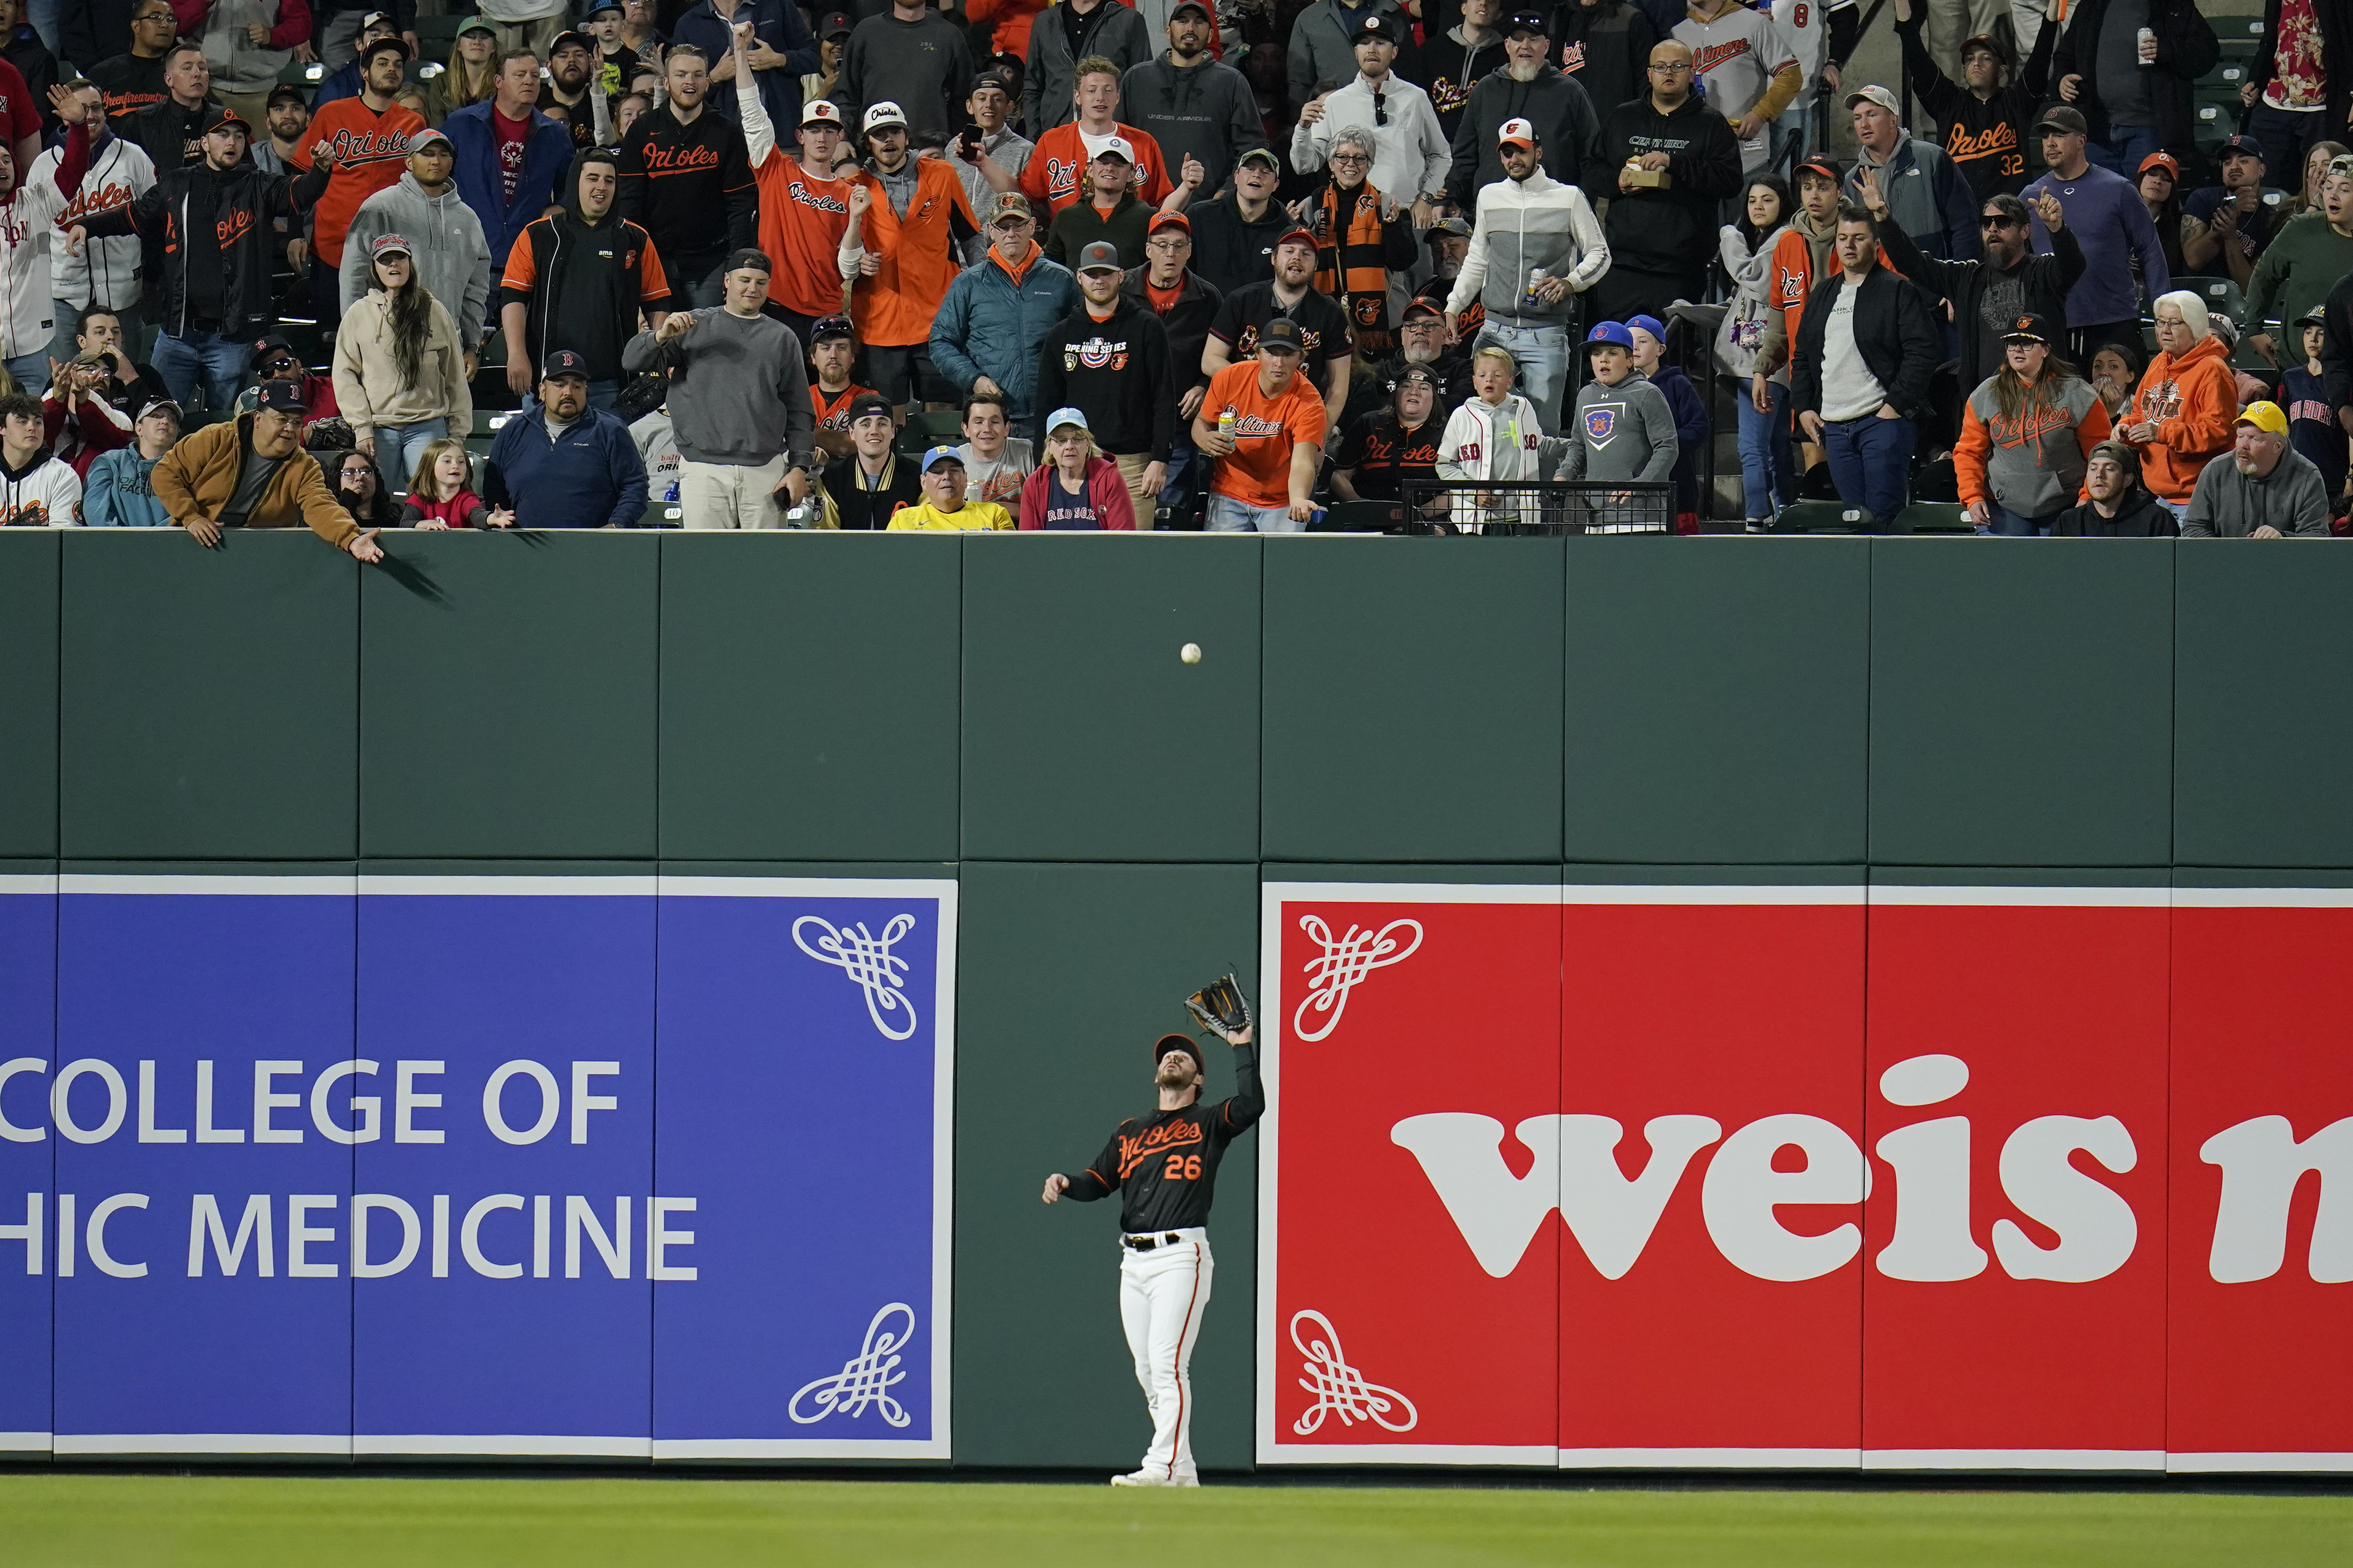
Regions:
[[[1259,1460],[2353,1469],[2348,905],[1268,884]]]

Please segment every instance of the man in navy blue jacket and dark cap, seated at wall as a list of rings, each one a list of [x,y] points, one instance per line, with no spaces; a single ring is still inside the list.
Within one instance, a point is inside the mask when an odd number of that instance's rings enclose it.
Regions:
[[[518,529],[631,529],[645,522],[645,458],[628,425],[588,407],[588,362],[548,355],[539,402],[489,444],[482,498]]]

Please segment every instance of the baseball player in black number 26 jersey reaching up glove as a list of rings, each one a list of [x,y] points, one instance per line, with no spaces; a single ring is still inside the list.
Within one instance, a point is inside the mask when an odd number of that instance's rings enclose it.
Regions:
[[[1113,1486],[1200,1486],[1191,1361],[1209,1305],[1209,1201],[1226,1145],[1266,1112],[1247,1011],[1242,1027],[1217,1034],[1235,1053],[1231,1100],[1202,1105],[1200,1046],[1191,1034],[1162,1034],[1153,1046],[1160,1110],[1122,1121],[1078,1175],[1045,1178],[1047,1204],[1064,1194],[1080,1204],[1120,1194],[1120,1326],[1153,1413],[1153,1446],[1144,1467],[1111,1476]]]

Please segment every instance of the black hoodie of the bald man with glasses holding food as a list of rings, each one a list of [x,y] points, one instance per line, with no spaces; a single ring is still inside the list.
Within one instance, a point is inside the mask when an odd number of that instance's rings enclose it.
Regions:
[[[1619,190],[1626,160],[1666,153],[1668,186]],[[1715,254],[1715,207],[1741,193],[1741,143],[1697,92],[1661,115],[1649,94],[1602,118],[1600,158],[1586,165],[1586,197],[1609,202],[1609,270],[1678,277]]]

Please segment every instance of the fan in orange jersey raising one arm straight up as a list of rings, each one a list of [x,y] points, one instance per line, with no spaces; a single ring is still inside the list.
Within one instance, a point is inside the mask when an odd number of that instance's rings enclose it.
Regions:
[[[760,249],[776,263],[767,313],[781,317],[807,350],[814,348],[816,322],[842,313],[835,256],[842,230],[849,228],[849,181],[833,179],[845,129],[842,106],[831,99],[800,106],[800,158],[793,158],[776,143],[776,122],[760,99],[748,21],[734,26],[734,66],[744,148],[760,190]]]

